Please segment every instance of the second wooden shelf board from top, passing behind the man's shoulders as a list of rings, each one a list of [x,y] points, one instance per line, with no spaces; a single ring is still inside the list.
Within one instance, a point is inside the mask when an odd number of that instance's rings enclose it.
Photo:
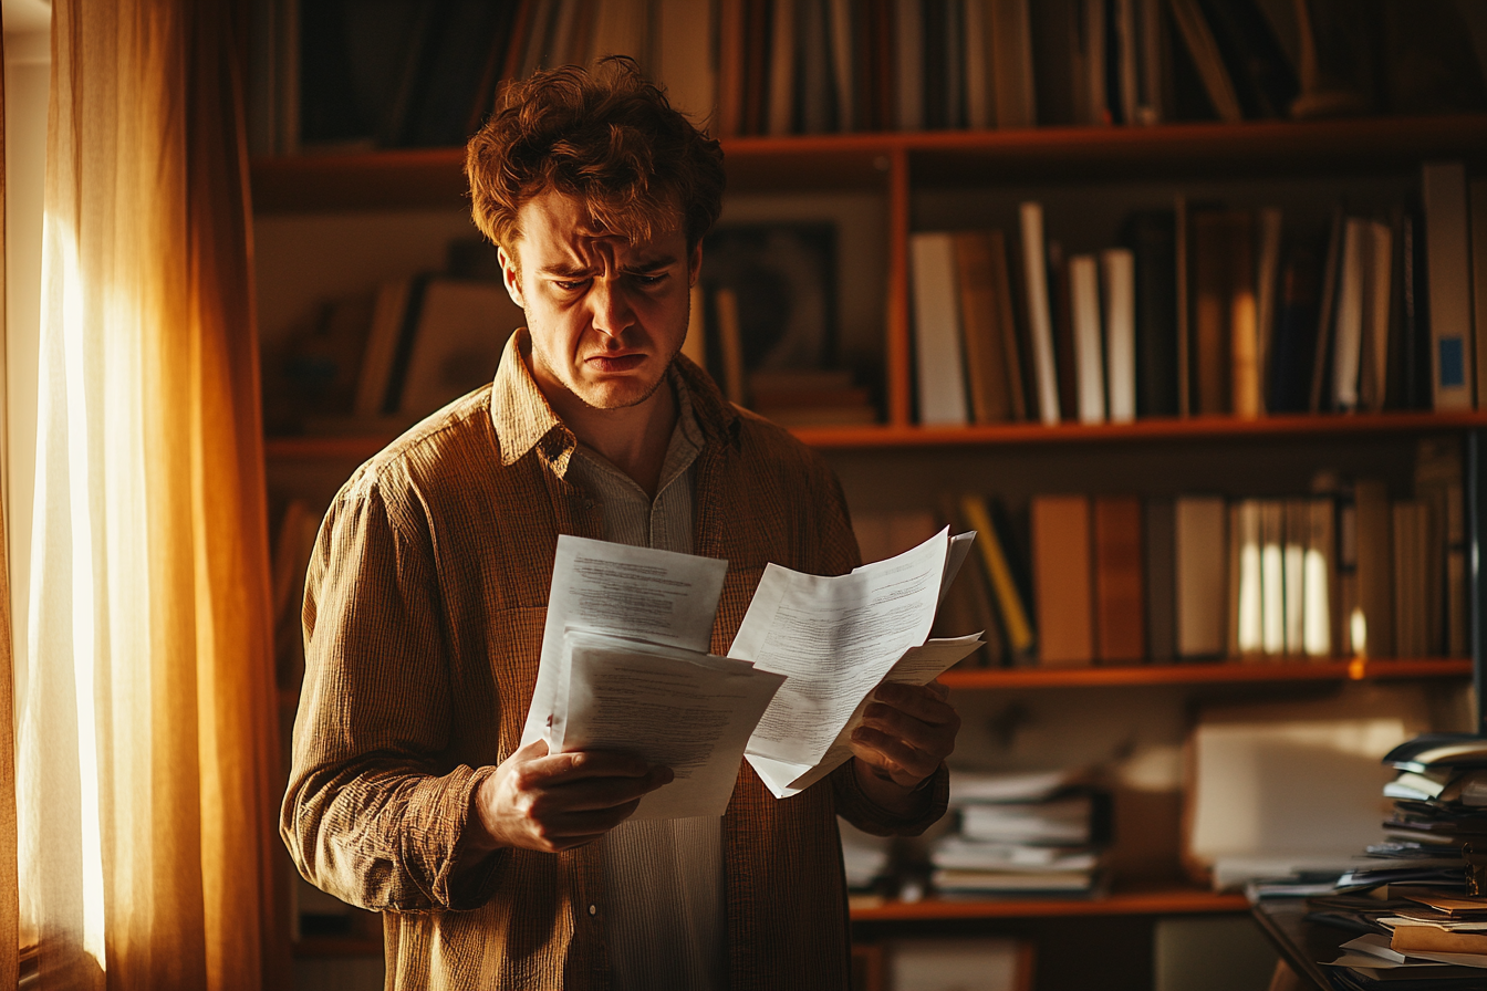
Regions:
[[[1362,413],[1268,416],[1240,420],[1231,416],[1148,419],[1135,423],[998,423],[987,426],[803,426],[791,431],[822,450],[873,447],[959,447],[977,444],[1065,444],[1148,440],[1325,437],[1335,434],[1387,434],[1401,431],[1456,431],[1487,428],[1487,412],[1469,413]],[[378,435],[269,437],[271,461],[366,461],[393,440]]]

